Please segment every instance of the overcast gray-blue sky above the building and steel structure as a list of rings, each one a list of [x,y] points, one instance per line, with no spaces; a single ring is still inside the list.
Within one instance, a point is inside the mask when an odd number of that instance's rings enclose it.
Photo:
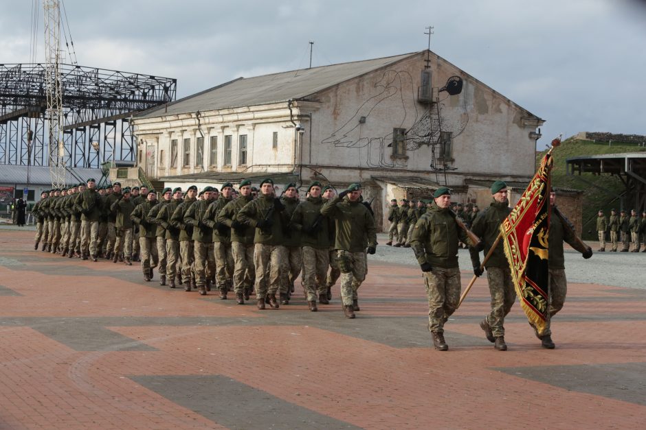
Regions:
[[[0,62],[30,62],[32,3],[0,0]],[[313,66],[420,51],[432,25],[432,51],[546,120],[539,147],[559,133],[646,134],[644,1],[61,3],[78,64],[175,77],[178,98],[306,68],[310,40]],[[42,10],[37,36],[43,62]]]

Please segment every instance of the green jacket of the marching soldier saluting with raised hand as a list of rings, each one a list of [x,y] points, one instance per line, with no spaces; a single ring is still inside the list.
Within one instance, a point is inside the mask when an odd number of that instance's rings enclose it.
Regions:
[[[359,200],[337,195],[322,206],[321,215],[334,220],[335,250],[365,252],[366,246],[377,246],[375,219]]]

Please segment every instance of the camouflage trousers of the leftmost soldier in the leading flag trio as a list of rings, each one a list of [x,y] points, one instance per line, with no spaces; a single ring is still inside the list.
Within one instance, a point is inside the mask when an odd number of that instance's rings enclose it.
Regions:
[[[428,330],[444,333],[447,322],[460,302],[460,269],[433,267],[433,272],[423,272],[424,287],[428,297]]]

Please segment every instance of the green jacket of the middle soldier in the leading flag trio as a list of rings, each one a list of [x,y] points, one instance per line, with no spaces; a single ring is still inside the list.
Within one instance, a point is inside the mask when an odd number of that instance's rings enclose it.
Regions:
[[[504,219],[511,213],[511,208],[507,203],[500,203],[493,200],[488,208],[480,212],[476,217],[471,231],[482,241],[485,246],[485,255],[491,249],[495,239],[498,239],[500,234],[500,225]],[[473,247],[469,247],[469,254],[471,254],[471,264],[476,267],[480,265],[480,254]],[[504,245],[502,240],[498,241],[498,246],[491,253],[489,260],[485,263],[485,267],[509,267],[509,262],[504,256]]]

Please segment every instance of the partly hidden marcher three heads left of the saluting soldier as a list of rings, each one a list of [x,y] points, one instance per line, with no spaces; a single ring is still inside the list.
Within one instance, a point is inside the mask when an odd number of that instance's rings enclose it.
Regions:
[[[296,211],[296,206],[300,203],[296,184],[287,184],[287,187],[285,187],[285,193],[282,195],[280,201],[285,205],[287,219],[291,219],[294,211]],[[294,230],[289,227],[285,230],[283,245],[287,248],[289,274],[287,274],[287,284],[280,286],[280,304],[289,304],[289,298],[294,292],[294,281],[298,278],[298,275],[300,275],[300,270],[303,265],[300,240],[301,237],[298,230]]]

